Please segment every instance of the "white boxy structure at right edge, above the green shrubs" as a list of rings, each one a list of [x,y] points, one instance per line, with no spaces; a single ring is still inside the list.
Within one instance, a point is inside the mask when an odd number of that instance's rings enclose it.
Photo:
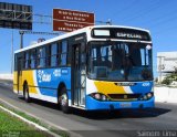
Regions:
[[[176,68],[177,68],[177,51],[157,53],[157,72],[173,73],[176,71]]]

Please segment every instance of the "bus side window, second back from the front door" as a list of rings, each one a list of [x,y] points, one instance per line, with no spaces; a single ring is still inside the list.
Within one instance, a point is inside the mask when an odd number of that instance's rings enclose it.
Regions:
[[[51,66],[58,65],[58,44],[53,43],[51,45]]]

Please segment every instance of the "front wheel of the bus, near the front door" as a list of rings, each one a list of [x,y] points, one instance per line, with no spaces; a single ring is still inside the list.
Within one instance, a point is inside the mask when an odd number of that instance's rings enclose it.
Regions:
[[[70,113],[69,96],[67,96],[65,87],[63,87],[61,89],[60,105],[61,105],[61,109],[62,109],[63,113],[65,113],[65,114]]]

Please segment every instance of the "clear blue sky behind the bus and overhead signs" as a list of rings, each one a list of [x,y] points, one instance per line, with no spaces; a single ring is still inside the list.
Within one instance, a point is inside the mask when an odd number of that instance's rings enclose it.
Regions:
[[[32,6],[34,14],[52,15],[53,8],[94,12],[96,24],[111,19],[115,25],[147,29],[153,39],[155,76],[158,75],[157,52],[177,51],[177,0],[0,0],[0,2]],[[34,17],[34,20],[38,18]],[[52,32],[52,23],[33,23],[33,31]],[[54,35],[25,34],[24,46],[40,38],[50,39]],[[0,73],[11,73],[12,45],[14,51],[20,48],[19,30],[0,28]]]

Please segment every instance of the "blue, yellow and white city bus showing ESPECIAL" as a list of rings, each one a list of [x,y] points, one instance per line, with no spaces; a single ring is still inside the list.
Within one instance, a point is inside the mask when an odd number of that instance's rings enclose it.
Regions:
[[[15,51],[13,91],[64,113],[154,107],[152,50],[144,29],[80,29]]]

